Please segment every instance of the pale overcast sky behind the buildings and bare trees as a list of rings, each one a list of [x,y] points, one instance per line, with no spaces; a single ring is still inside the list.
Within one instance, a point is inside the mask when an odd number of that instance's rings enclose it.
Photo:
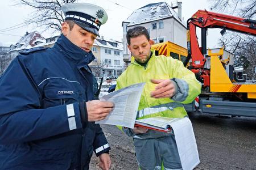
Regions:
[[[109,19],[106,24],[101,26],[100,35],[104,36],[106,39],[114,39],[118,41],[121,41],[122,39],[122,21],[127,19],[134,10],[143,7],[148,3],[167,2],[170,6],[172,3],[176,3],[176,1],[163,0],[80,0],[79,2],[93,3],[105,8]],[[188,18],[191,18],[191,16],[197,10],[209,10],[209,3],[207,0],[181,0],[181,2],[182,16],[184,17],[185,22]],[[116,5],[116,3],[118,5]],[[0,5],[0,21],[2,25],[0,28],[0,46],[16,44],[16,42],[26,33],[26,31],[38,31],[39,33],[42,33],[43,37],[45,38],[54,35],[50,31],[42,32],[42,28],[35,28],[35,26],[20,27],[11,31],[1,31],[2,29],[13,27],[14,25],[19,27],[20,25],[18,24],[23,23],[24,19],[30,16],[32,9],[26,6],[14,5],[13,0],[1,1]],[[217,47],[217,40],[221,37],[219,32],[219,29],[208,29],[207,46],[209,48]],[[200,37],[200,35],[198,36]]]

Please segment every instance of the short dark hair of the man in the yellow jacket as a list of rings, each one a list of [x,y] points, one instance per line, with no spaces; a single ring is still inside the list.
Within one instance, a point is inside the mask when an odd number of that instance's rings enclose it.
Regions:
[[[148,41],[150,40],[150,36],[145,27],[138,26],[138,27],[129,29],[126,34],[126,39],[127,39],[128,44],[131,45],[131,38],[138,37],[141,35],[146,36]]]

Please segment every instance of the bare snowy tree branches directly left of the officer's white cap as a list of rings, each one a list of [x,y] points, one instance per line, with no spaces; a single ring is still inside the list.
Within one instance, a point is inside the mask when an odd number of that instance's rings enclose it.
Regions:
[[[16,0],[17,5],[30,6],[34,11],[27,19],[27,24],[36,24],[37,27],[53,31],[61,30],[61,23],[64,21],[61,6],[65,3],[76,2],[77,0]]]

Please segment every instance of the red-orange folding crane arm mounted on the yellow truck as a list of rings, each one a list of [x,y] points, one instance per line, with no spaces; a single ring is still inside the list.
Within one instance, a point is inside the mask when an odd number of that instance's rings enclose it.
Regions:
[[[187,22],[188,57],[184,62],[184,65],[187,65],[189,59],[192,58],[192,67],[194,69],[204,68],[204,63],[206,61],[205,55],[207,54],[207,28],[222,28],[222,33],[225,32],[225,29],[228,29],[256,36],[255,24],[256,20],[218,14],[216,12],[208,12],[207,10],[198,10]],[[199,48],[197,42],[196,27],[201,28],[201,48]]]

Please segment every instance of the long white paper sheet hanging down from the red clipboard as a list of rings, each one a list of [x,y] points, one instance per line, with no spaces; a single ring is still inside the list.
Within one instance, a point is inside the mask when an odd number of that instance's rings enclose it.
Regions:
[[[177,150],[184,170],[191,170],[200,163],[196,146],[196,138],[189,118],[181,118],[171,122],[174,130]]]

